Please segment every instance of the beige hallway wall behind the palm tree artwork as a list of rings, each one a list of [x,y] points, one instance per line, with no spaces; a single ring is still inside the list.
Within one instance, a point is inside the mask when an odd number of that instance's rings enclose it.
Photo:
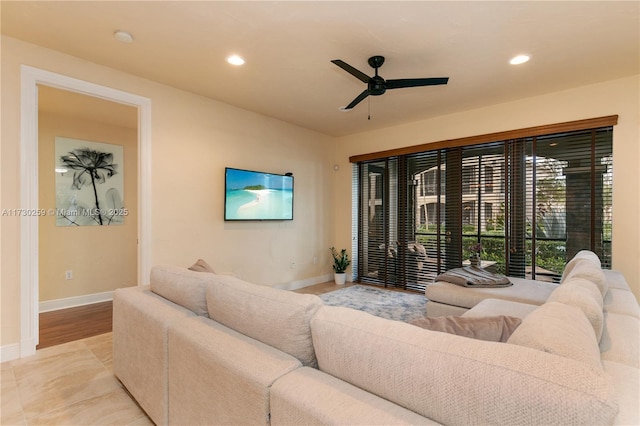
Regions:
[[[42,92],[40,93],[42,100]],[[103,101],[106,102],[106,101]],[[137,110],[128,107],[130,114]],[[138,132],[74,116],[38,114],[38,205],[56,208],[56,136],[121,145],[124,153],[124,206],[128,216],[113,226],[56,226],[55,215],[42,216],[39,233],[40,302],[102,293],[137,283]],[[65,271],[73,279],[65,279]]]

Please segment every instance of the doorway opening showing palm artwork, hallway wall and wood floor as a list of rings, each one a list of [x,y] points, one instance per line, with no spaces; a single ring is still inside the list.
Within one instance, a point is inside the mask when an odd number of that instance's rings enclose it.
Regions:
[[[38,159],[41,349],[111,331],[107,301],[137,282],[137,108],[38,85]]]

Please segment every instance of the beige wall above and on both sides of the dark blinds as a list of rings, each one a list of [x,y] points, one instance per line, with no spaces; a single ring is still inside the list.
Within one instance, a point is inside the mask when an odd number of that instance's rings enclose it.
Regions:
[[[544,124],[619,115],[613,130],[613,268],[640,297],[640,76],[578,87],[338,139],[334,177],[335,241],[351,247],[349,157],[404,146]],[[344,206],[344,211],[338,206]]]

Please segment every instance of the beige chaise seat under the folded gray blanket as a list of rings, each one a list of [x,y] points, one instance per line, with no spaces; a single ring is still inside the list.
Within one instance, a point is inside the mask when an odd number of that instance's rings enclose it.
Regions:
[[[429,284],[425,290],[427,316],[462,315],[485,299],[503,299],[529,305],[542,305],[558,286],[546,281],[509,277],[509,287],[473,288],[444,281]]]

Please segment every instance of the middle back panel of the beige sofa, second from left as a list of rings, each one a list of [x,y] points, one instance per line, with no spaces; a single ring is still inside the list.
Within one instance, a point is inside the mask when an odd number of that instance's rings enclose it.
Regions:
[[[302,365],[209,318],[169,328],[169,423],[268,425],[273,383]]]

